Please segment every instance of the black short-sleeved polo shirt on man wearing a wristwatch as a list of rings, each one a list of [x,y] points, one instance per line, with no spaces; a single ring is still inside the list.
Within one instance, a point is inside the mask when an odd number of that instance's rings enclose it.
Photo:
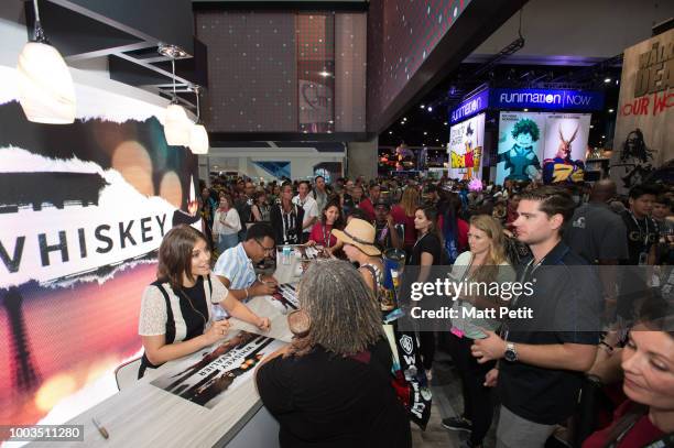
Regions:
[[[503,337],[515,347],[518,342],[599,343],[602,297],[595,267],[564,242],[557,243],[540,266],[525,269],[528,264],[525,261],[518,267],[518,282],[531,282],[533,294],[520,295],[511,309],[529,307],[533,318],[506,319]],[[554,425],[574,413],[583,378],[583,372],[502,360],[498,390],[503,406],[514,414]]]

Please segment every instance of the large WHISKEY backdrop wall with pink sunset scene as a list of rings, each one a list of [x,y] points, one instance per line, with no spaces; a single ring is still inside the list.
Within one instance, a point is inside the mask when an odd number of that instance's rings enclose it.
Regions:
[[[116,393],[163,236],[200,227],[197,157],[166,144],[164,109],[77,95],[64,125],[0,99],[1,422],[59,424]]]

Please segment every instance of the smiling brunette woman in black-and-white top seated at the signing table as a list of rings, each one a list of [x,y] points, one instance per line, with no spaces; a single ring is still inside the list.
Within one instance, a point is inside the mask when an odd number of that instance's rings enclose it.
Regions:
[[[230,316],[269,330],[261,318],[210,276],[210,250],[204,233],[181,225],[164,236],[159,250],[157,280],[145,288],[138,332],[145,352],[139,378],[156,368],[215,343],[227,334],[228,320],[214,321],[211,304]]]

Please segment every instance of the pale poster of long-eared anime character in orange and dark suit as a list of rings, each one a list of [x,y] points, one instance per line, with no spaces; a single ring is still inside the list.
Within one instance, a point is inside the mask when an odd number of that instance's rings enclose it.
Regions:
[[[545,118],[543,183],[583,182],[590,114],[548,114]]]

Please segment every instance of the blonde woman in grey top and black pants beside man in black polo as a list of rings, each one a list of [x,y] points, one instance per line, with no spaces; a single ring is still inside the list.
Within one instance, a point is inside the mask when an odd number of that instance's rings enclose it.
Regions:
[[[470,250],[461,253],[452,269],[455,284],[468,285],[468,292],[454,302],[453,308],[458,318],[452,319],[452,330],[447,335],[447,351],[452,354],[463,383],[464,415],[445,418],[443,426],[448,429],[470,431],[470,447],[480,447],[491,425],[493,404],[489,386],[493,385],[494,362],[480,364],[470,353],[475,339],[485,338],[482,329],[494,331],[498,320],[469,318],[472,308],[479,310],[498,308],[513,297],[510,288],[501,286],[515,281],[515,272],[506,258],[503,227],[488,215],[470,218],[468,245]],[[494,294],[494,289],[502,294]],[[461,309],[463,308],[463,309]]]

